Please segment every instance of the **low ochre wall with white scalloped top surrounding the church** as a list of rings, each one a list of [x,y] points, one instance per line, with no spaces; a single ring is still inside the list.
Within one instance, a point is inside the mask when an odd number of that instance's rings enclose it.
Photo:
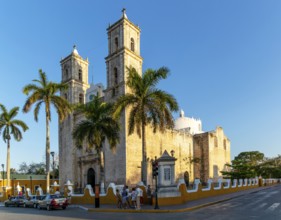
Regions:
[[[265,185],[273,185],[280,183],[280,179],[245,179],[245,180],[234,180],[233,183],[230,180],[221,180],[217,183],[218,186],[209,180],[207,187],[202,187],[200,181],[194,182],[193,189],[187,189],[183,180],[180,180],[177,187],[175,187],[172,192],[161,192],[158,193],[158,204],[161,206],[165,205],[178,205],[184,204],[189,201],[207,198],[211,196],[229,194],[234,192],[239,192],[247,189],[258,188]],[[143,190],[144,203],[149,204],[149,200],[146,195],[146,187],[140,186]],[[116,185],[111,183],[107,188],[106,194],[97,195],[100,198],[100,204],[116,204]],[[175,195],[178,196],[169,196]],[[72,194],[71,204],[93,204],[95,205],[95,194],[91,186],[87,186],[84,189],[84,194]],[[152,199],[152,204],[155,204],[155,198]]]

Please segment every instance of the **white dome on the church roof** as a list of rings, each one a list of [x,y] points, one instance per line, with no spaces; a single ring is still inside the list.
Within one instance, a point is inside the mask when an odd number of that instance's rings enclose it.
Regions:
[[[203,132],[201,120],[185,117],[183,110],[180,111],[180,117],[175,120],[174,129],[188,131],[191,134],[200,134]]]

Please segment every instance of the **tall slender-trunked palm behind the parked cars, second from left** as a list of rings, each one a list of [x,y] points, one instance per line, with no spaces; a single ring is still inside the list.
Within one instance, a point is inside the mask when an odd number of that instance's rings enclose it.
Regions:
[[[23,88],[23,93],[30,96],[27,98],[23,112],[30,111],[32,105],[34,108],[34,119],[38,121],[38,114],[42,104],[45,104],[46,114],[46,175],[47,175],[47,192],[50,188],[50,126],[51,121],[51,106],[53,106],[59,116],[60,122],[71,112],[71,105],[66,99],[57,95],[59,91],[67,89],[64,83],[54,83],[48,81],[46,74],[40,69],[39,80],[34,79],[32,84],[28,84]]]

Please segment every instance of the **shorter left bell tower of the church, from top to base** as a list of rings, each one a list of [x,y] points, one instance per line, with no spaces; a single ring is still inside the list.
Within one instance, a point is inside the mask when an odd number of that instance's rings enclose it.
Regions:
[[[71,104],[85,103],[86,90],[88,84],[88,59],[83,59],[76,46],[70,55],[60,61],[62,82],[68,85],[68,89],[61,93],[61,96]],[[76,117],[69,115],[59,124],[59,172],[60,185],[63,186],[67,180],[77,181],[78,159],[77,148],[72,138],[72,131],[75,125]]]

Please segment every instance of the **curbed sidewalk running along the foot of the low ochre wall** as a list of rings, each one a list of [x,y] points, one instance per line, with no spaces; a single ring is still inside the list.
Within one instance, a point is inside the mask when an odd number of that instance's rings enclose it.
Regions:
[[[142,205],[141,210],[135,210],[135,209],[118,209],[116,205],[100,205],[100,208],[95,208],[94,204],[87,204],[87,205],[71,205],[70,207],[79,207],[83,210],[89,211],[89,212],[128,212],[128,213],[169,213],[169,212],[187,212],[196,210],[199,208],[203,208],[206,206],[210,206],[213,204],[225,202],[240,196],[245,196],[250,193],[255,193],[261,190],[266,190],[272,187],[276,187],[278,185],[273,186],[264,186],[264,187],[258,187],[255,189],[249,189],[249,190],[243,190],[236,193],[230,193],[226,195],[220,195],[220,196],[212,196],[209,198],[199,199],[187,202],[185,204],[181,205],[172,205],[172,206],[160,206],[160,209],[154,209],[154,205]]]

